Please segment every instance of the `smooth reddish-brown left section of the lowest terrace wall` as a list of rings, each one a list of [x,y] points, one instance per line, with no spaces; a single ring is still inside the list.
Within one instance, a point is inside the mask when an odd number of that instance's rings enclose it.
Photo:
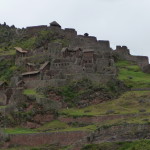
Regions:
[[[9,145],[38,146],[45,144],[60,144],[65,146],[71,145],[89,134],[89,132],[84,131],[16,134],[10,135]]]

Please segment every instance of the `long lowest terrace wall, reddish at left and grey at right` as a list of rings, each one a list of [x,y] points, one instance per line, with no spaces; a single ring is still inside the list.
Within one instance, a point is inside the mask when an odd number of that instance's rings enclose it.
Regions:
[[[10,135],[8,145],[39,146],[59,144],[60,146],[82,146],[89,143],[132,141],[150,138],[150,125],[123,124],[101,127],[95,132],[72,131]]]

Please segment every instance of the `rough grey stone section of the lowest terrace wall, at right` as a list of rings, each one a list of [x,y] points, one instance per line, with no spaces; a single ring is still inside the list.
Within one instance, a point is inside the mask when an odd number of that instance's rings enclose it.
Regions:
[[[146,124],[117,125],[101,128],[95,133],[92,133],[87,140],[92,143],[103,143],[150,139],[149,130],[150,125]]]

